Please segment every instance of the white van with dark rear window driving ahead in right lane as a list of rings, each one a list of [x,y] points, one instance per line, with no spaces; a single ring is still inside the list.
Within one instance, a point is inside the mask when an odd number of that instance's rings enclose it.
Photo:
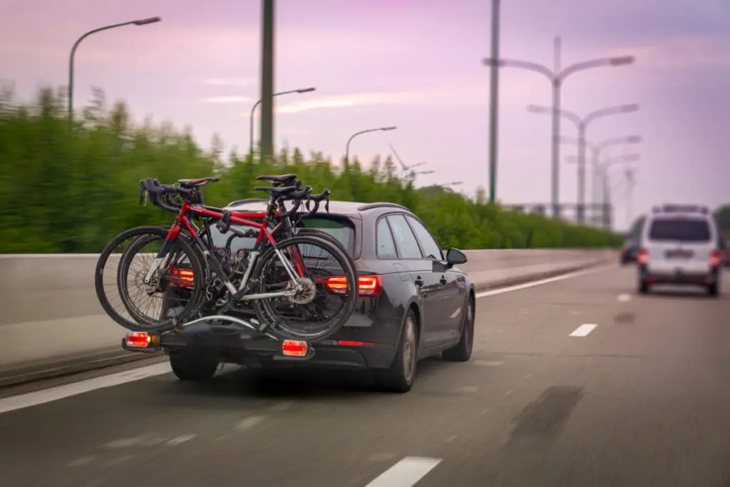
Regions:
[[[699,285],[718,296],[723,255],[707,207],[655,207],[642,229],[637,264],[639,293],[655,284]]]

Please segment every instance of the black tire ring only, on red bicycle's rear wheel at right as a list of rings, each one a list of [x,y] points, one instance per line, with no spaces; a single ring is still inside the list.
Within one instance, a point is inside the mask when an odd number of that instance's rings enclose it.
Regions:
[[[335,256],[335,258],[337,258],[340,264],[344,264],[343,270],[345,271],[345,277],[347,278],[347,288],[355,290],[358,289],[357,271],[355,267],[350,264],[350,262],[352,262],[352,258],[349,256],[349,254],[341,250],[342,245],[333,245],[326,239],[314,237],[312,235],[298,235],[296,237],[289,237],[287,239],[281,240],[280,242],[277,242],[277,248],[286,248],[289,245],[307,244],[316,245],[320,248],[326,248],[328,252],[330,252],[333,256]],[[271,261],[272,259],[278,260],[278,256],[274,252],[274,250],[276,249],[273,247],[266,249],[264,253],[262,253],[261,256],[256,260],[253,271],[251,272],[251,278],[258,281],[258,290],[256,292],[265,292],[264,281],[261,280],[261,273],[264,270],[264,266],[269,261]],[[271,306],[269,304],[269,299],[255,300],[253,302],[253,310],[259,323],[276,325],[269,326],[268,331],[270,331],[272,334],[276,335],[280,339],[318,342],[320,340],[326,340],[328,337],[331,337],[333,334],[337,333],[337,331],[339,331],[342,326],[345,325],[345,322],[350,318],[350,316],[353,314],[353,311],[355,310],[357,299],[357,291],[347,293],[347,298],[345,299],[345,304],[342,306],[342,309],[335,313],[328,320],[327,325],[324,326],[323,329],[321,329],[320,331],[307,332],[295,329],[291,326],[286,325],[285,323],[272,323],[273,320],[270,310]]]

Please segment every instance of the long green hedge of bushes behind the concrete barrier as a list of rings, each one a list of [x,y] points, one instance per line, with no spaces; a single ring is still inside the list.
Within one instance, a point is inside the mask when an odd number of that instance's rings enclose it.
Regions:
[[[191,129],[169,123],[131,123],[125,104],[105,108],[97,91],[82,118],[69,125],[64,98],[50,89],[32,106],[0,93],[0,253],[95,253],[132,226],[170,223],[164,210],[139,207],[138,181],[157,177],[220,175],[206,187],[210,204],[261,196],[255,176],[293,172],[315,191],[330,188],[334,199],[403,204],[434,232],[443,247],[589,248],[621,245],[607,231],[524,215],[480,204],[437,186],[417,190],[396,177],[390,158],[369,169],[358,161],[331,164],[320,153],[308,158],[283,149],[274,163],[221,154],[193,142]]]

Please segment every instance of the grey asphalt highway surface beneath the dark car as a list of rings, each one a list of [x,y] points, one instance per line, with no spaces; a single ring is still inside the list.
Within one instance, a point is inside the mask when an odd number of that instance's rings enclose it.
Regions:
[[[160,364],[1,413],[0,485],[729,486],[730,295],[637,296],[634,272],[478,299],[472,361],[422,362],[409,394]]]

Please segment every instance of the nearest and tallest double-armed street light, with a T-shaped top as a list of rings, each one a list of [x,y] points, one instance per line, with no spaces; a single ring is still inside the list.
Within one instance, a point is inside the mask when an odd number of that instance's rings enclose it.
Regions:
[[[512,67],[519,69],[527,69],[529,71],[538,72],[543,74],[550,80],[550,84],[553,85],[553,108],[556,111],[553,112],[553,184],[552,184],[552,200],[553,200],[553,216],[558,216],[558,199],[559,199],[559,186],[560,186],[560,117],[558,116],[558,110],[560,110],[560,88],[563,85],[566,77],[569,75],[584,71],[585,69],[598,68],[601,66],[626,66],[627,64],[633,64],[636,59],[632,55],[626,56],[615,56],[612,58],[599,58],[592,59],[591,61],[583,61],[576,64],[571,64],[565,68],[561,67],[561,38],[556,36],[554,39],[554,66],[553,69],[543,66],[542,64],[533,63],[531,61],[520,61],[517,59],[496,59],[496,58],[484,58],[483,64],[485,66],[499,66],[499,67]]]

